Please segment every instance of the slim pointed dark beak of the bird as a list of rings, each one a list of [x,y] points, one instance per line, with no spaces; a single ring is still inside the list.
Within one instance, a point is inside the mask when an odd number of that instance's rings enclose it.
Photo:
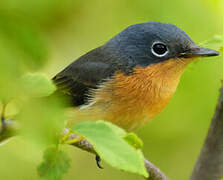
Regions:
[[[180,57],[190,58],[190,57],[209,57],[209,56],[218,56],[220,53],[218,51],[201,48],[199,46],[192,47],[190,50],[181,53]]]

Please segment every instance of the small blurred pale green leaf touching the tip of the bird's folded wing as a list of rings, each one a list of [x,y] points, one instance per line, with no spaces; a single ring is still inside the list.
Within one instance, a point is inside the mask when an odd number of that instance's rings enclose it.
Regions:
[[[46,75],[40,73],[27,74],[22,78],[24,91],[34,97],[44,97],[52,94],[56,87]]]

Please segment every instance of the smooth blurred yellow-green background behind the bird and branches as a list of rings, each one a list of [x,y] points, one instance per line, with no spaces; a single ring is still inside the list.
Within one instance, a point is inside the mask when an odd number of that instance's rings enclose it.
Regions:
[[[6,99],[16,96],[17,78],[24,72],[52,77],[131,24],[173,23],[200,43],[223,35],[222,18],[221,0],[1,0],[0,93]],[[222,57],[191,64],[168,107],[137,131],[146,157],[172,180],[190,176],[215,110],[222,67]],[[31,127],[36,127],[38,122],[32,121],[37,119],[30,119]],[[100,170],[92,155],[63,148],[72,157],[64,180],[143,179],[104,164]],[[39,179],[36,166],[42,151],[22,137],[0,146],[0,179]]]

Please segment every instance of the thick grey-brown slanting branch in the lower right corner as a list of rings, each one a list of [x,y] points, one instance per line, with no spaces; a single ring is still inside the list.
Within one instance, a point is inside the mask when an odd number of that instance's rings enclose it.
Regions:
[[[190,180],[223,177],[223,86],[212,123]]]

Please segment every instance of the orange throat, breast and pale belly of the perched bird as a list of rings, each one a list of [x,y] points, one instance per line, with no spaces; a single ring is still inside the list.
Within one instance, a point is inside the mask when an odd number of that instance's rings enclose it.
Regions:
[[[170,59],[148,67],[136,67],[130,75],[117,72],[93,92],[85,114],[111,121],[131,131],[152,120],[173,96],[190,59]]]

